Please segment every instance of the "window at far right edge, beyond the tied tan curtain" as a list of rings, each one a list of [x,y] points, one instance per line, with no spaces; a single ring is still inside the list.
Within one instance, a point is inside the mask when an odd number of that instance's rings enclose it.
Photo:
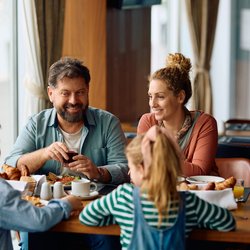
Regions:
[[[250,118],[250,2],[232,7],[232,100],[231,117]]]

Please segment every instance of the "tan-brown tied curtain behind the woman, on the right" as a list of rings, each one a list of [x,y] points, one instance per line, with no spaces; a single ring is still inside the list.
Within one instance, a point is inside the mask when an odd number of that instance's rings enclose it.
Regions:
[[[210,60],[213,51],[219,0],[186,0],[194,51],[193,106],[212,114]]]

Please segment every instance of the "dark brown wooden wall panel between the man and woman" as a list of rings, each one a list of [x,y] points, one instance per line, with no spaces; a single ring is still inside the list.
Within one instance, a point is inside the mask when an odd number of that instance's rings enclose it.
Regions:
[[[107,109],[122,122],[149,111],[150,22],[150,8],[107,12]]]

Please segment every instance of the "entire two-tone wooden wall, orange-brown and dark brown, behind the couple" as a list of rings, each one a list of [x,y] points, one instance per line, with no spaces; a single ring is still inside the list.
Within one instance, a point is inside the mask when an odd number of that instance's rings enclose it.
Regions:
[[[150,8],[108,9],[106,0],[66,0],[63,56],[90,69],[90,105],[122,122],[149,110]]]

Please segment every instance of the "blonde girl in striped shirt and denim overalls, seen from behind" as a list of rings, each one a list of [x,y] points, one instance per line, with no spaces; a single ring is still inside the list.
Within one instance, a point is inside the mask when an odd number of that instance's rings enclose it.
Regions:
[[[126,148],[132,183],[87,205],[79,219],[89,226],[117,223],[122,249],[185,249],[195,227],[229,231],[235,220],[224,208],[178,192],[182,155],[162,127],[153,126]],[[216,216],[214,216],[216,214]]]

